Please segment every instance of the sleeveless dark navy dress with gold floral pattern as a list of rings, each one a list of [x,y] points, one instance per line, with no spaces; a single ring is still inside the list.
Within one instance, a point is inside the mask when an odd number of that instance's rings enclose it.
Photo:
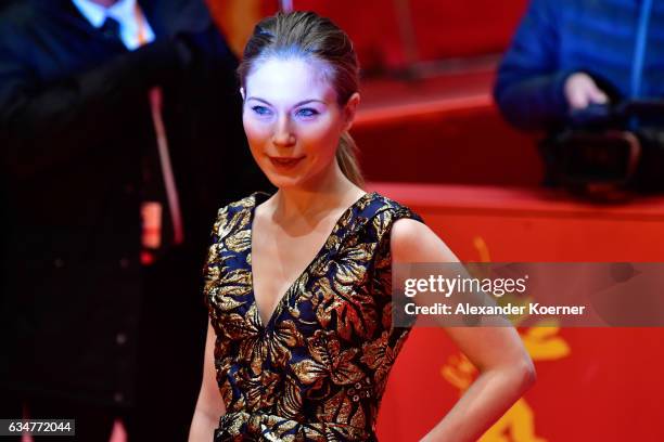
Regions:
[[[392,326],[390,232],[410,209],[368,193],[263,324],[252,289],[252,221],[269,195],[219,210],[204,295],[227,413],[219,441],[375,440],[387,375],[408,328]]]

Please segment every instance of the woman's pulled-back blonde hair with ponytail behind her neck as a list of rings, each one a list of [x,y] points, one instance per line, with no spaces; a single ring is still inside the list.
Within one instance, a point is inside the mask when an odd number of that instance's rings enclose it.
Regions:
[[[246,77],[256,65],[274,56],[299,56],[324,63],[340,106],[359,90],[359,63],[353,42],[332,21],[314,12],[280,12],[256,25],[238,67],[242,87],[246,87]],[[362,187],[365,180],[356,153],[355,141],[344,132],[336,147],[336,160],[344,176]]]

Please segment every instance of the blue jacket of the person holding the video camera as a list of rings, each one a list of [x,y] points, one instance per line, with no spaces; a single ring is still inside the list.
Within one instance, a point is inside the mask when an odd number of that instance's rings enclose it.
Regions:
[[[508,121],[565,121],[566,78],[589,74],[612,101],[664,98],[664,0],[532,0],[498,69],[494,95]]]

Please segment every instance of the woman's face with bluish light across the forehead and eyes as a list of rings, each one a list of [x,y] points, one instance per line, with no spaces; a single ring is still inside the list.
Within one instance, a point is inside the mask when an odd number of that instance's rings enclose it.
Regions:
[[[321,62],[269,58],[246,78],[242,120],[254,159],[279,187],[311,187],[335,167],[359,95],[341,107]]]

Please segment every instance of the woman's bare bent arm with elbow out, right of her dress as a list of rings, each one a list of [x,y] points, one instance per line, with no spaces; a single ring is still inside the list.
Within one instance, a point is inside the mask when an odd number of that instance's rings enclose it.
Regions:
[[[457,257],[426,225],[395,222],[391,235],[394,263],[457,262]],[[475,441],[535,381],[535,368],[513,327],[447,327],[447,334],[477,367],[480,376],[424,441]]]

